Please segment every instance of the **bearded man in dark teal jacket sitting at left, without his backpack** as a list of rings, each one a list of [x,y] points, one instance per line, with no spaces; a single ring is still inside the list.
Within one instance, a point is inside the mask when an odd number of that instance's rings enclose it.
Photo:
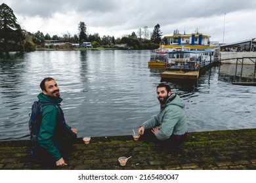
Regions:
[[[42,122],[37,141],[37,152],[45,161],[56,162],[56,166],[64,167],[63,154],[71,148],[72,141],[77,137],[77,129],[69,127],[60,108],[62,99],[60,89],[53,78],[44,78],[40,84],[42,93],[37,96],[39,101],[47,103],[42,108]]]

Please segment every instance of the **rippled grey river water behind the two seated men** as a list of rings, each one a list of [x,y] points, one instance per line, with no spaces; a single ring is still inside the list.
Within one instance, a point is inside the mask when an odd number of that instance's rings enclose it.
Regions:
[[[150,50],[11,53],[0,58],[0,141],[29,139],[28,120],[45,77],[60,87],[66,122],[78,137],[131,135],[160,105],[163,70]],[[252,66],[249,66],[252,67]],[[231,84],[235,65],[212,67],[198,82],[167,82],[186,103],[188,131],[255,128],[256,87]]]

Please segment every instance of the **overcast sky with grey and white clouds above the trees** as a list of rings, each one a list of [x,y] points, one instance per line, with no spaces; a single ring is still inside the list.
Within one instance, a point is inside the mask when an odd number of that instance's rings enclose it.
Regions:
[[[160,24],[163,35],[210,35],[211,41],[236,42],[256,37],[255,0],[0,0],[12,8],[22,29],[44,35],[78,33],[85,22],[89,34],[122,37]]]

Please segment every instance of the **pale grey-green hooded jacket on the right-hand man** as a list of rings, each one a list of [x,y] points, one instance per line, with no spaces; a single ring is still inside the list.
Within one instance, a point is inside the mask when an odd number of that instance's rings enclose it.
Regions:
[[[156,138],[165,140],[171,135],[183,135],[188,131],[188,124],[186,123],[186,114],[184,111],[185,103],[173,93],[166,101],[165,105],[161,105],[158,115],[152,117],[142,124],[144,129],[151,129],[159,127]]]

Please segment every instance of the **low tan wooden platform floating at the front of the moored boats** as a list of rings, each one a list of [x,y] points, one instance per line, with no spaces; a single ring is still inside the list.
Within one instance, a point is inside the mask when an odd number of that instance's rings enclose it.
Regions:
[[[188,79],[188,80],[197,80],[199,76],[199,71],[165,71],[161,73],[162,79]]]

